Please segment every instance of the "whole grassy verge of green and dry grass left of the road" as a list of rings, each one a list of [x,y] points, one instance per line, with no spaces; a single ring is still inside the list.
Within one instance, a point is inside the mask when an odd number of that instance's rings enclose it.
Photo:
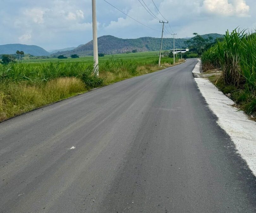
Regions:
[[[173,66],[172,58],[163,58],[161,67],[157,62],[111,57],[100,64],[99,77],[91,62],[0,65],[0,122],[95,87]]]

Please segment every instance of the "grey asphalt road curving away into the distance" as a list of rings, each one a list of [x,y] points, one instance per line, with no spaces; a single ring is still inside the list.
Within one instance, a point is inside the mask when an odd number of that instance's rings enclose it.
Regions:
[[[0,123],[0,212],[256,212],[256,179],[200,94],[197,62]]]

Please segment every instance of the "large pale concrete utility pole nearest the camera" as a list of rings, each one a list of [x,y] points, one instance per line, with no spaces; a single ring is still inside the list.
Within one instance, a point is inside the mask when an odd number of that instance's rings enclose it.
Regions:
[[[98,60],[98,39],[97,39],[97,20],[96,20],[96,3],[92,0],[92,18],[93,18],[93,60],[94,72],[99,76],[99,60]]]

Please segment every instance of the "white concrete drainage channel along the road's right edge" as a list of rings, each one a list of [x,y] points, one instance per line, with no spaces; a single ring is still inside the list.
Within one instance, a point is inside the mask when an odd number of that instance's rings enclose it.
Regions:
[[[218,125],[229,134],[237,152],[256,176],[256,122],[243,111],[233,107],[234,101],[219,91],[208,79],[202,78],[201,61],[192,71],[198,88],[211,111],[218,117]]]

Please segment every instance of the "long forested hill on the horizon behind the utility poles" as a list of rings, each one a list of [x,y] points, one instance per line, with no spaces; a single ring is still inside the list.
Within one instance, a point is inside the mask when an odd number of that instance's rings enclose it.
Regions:
[[[211,36],[213,39],[223,37],[221,34],[211,33],[202,35],[204,38]],[[175,39],[175,47],[186,48],[185,41],[189,38],[177,38]],[[161,44],[161,38],[142,37],[135,39],[123,39],[117,38],[111,35],[101,36],[98,38],[98,52],[104,54],[118,54],[131,52],[137,50],[154,51],[159,50]],[[173,49],[173,38],[163,39],[163,50]],[[58,52],[58,55],[70,56],[77,54],[79,56],[86,56],[93,54],[93,42],[90,41],[87,44],[80,45],[74,50]],[[53,54],[54,55],[54,54]]]

